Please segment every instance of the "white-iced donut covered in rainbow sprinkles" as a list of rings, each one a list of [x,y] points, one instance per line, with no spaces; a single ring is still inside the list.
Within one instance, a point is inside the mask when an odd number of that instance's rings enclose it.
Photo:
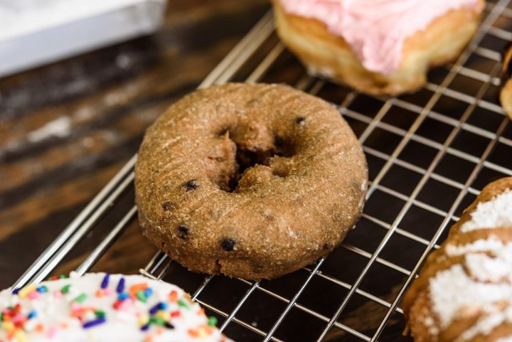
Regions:
[[[176,285],[89,273],[0,292],[1,342],[228,342]]]

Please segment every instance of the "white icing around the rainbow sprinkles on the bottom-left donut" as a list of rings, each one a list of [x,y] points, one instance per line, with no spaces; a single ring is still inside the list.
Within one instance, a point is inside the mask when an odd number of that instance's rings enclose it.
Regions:
[[[186,294],[182,289],[172,284],[156,282],[139,275],[122,276],[121,274],[112,274],[108,289],[111,294],[96,296],[100,289],[100,284],[105,274],[91,273],[84,277],[74,277],[73,279],[59,279],[54,282],[42,282],[37,287],[46,286],[48,292],[41,294],[38,299],[29,299],[23,296],[23,290],[18,295],[11,294],[8,290],[0,292],[0,311],[9,306],[21,305],[21,314],[26,316],[29,312],[35,310],[37,316],[29,319],[22,328],[18,328],[16,333],[24,335],[21,337],[9,337],[9,328],[5,322],[0,322],[0,341],[4,342],[169,342],[169,341],[231,341],[221,335],[217,328],[208,326],[208,318],[203,314],[199,304],[187,301]],[[147,283],[153,290],[146,302],[130,297],[125,299],[129,301],[126,309],[115,309],[114,303],[117,301],[117,285],[119,279],[124,277],[124,292],[129,292],[129,288],[134,284]],[[55,296],[67,284],[71,284],[69,292],[62,297]],[[176,292],[176,299],[170,299],[171,292]],[[73,301],[81,294],[86,294],[87,298],[80,304],[73,304]],[[23,298],[21,298],[23,297]],[[164,321],[169,322],[170,326],[158,326],[150,324],[146,331],[142,331],[141,326],[149,320],[149,310],[160,302],[168,306],[152,316],[156,317],[162,314]],[[73,317],[80,312],[78,308],[93,307],[96,310],[104,311],[106,322],[90,328],[83,328],[82,324],[97,319],[94,311],[82,311],[82,320]],[[73,308],[75,310],[73,310]],[[176,313],[179,314],[176,314]],[[175,313],[175,316],[171,316]],[[43,326],[42,331],[38,331],[38,325]],[[52,336],[53,335],[53,336]],[[194,335],[197,335],[194,337]],[[148,338],[151,336],[149,340]]]

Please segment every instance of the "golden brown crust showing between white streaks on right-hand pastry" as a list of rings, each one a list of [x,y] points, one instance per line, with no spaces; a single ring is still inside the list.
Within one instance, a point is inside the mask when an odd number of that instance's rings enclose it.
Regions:
[[[450,269],[454,265],[462,265],[466,269],[466,255],[472,253],[488,253],[476,252],[467,249],[472,243],[481,242],[492,239],[499,241],[502,245],[512,242],[512,227],[500,227],[494,229],[479,228],[475,230],[462,230],[461,227],[467,221],[471,220],[471,213],[476,210],[480,203],[491,201],[496,196],[512,189],[512,177],[501,178],[488,186],[486,186],[479,196],[476,198],[464,213],[460,220],[452,226],[449,237],[442,244],[439,250],[432,252],[427,258],[420,276],[412,282],[411,287],[407,290],[402,301],[407,324],[410,328],[412,336],[416,342],[449,342],[449,341],[498,341],[499,338],[512,335],[512,326],[508,322],[498,324],[494,328],[490,328],[489,333],[483,335],[477,333],[469,338],[462,338],[464,331],[474,327],[476,322],[484,317],[482,308],[479,306],[467,307],[464,311],[458,312],[456,319],[449,326],[442,328],[439,316],[433,311],[433,294],[430,293],[430,284],[432,279],[439,274]],[[462,254],[449,252],[448,248],[457,249],[466,247]],[[466,269],[465,272],[469,272]],[[464,296],[464,293],[460,294]],[[503,306],[505,309],[506,306]]]

